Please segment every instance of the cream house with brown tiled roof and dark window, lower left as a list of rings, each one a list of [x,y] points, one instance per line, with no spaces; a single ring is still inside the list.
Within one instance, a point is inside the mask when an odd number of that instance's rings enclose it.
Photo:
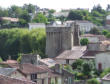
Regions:
[[[24,74],[27,80],[37,82],[39,84],[48,84],[48,71],[43,67],[32,64],[11,64],[11,68],[17,68],[17,71]]]

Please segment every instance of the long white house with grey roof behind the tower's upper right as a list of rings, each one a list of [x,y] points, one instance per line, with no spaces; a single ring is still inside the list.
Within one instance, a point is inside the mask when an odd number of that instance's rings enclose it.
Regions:
[[[81,32],[89,32],[92,28],[97,27],[90,21],[87,20],[73,20],[64,22],[65,25],[70,25],[72,22],[76,22],[79,25]]]

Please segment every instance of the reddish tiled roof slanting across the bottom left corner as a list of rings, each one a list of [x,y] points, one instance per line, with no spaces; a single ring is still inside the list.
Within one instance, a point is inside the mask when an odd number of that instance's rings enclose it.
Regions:
[[[0,75],[0,84],[36,84],[36,83]]]

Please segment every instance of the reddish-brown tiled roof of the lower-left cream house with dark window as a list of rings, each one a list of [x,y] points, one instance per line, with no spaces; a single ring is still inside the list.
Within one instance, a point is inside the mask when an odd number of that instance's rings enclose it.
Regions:
[[[32,64],[11,64],[10,67],[17,68],[19,71],[21,71],[24,74],[32,74],[32,73],[43,73],[47,72],[45,69],[43,69],[40,66],[35,66]]]

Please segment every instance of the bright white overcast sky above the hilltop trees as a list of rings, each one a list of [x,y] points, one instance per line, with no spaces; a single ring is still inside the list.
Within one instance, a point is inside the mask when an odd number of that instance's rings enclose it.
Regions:
[[[11,5],[22,6],[29,3],[38,5],[41,8],[50,8],[58,11],[70,8],[92,9],[97,4],[100,4],[105,9],[107,4],[110,4],[110,0],[0,0],[0,6],[3,8],[10,7]]]

